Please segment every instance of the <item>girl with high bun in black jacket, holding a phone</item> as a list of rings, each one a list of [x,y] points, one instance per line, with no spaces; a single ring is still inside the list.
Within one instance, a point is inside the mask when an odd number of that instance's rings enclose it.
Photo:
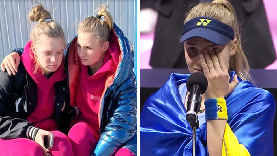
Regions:
[[[38,24],[18,60],[18,73],[0,71],[0,155],[73,156],[64,134],[75,111],[68,102],[63,29],[42,5],[32,8],[29,19]],[[46,149],[50,133],[54,144]]]

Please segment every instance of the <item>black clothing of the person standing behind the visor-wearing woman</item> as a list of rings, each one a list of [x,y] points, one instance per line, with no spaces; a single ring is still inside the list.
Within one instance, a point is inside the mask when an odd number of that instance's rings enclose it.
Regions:
[[[240,25],[242,48],[250,68],[265,68],[276,60],[263,1],[230,1]],[[141,8],[158,12],[150,65],[153,68],[187,68],[179,44],[186,13],[199,1],[141,1]]]

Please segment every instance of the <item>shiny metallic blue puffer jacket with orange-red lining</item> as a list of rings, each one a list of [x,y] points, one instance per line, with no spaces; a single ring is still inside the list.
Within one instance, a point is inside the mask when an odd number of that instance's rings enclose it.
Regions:
[[[96,156],[111,156],[119,148],[128,148],[136,155],[136,78],[133,72],[134,51],[130,41],[114,24],[113,34],[120,46],[119,65],[113,83],[105,91],[100,101],[100,140],[92,153]],[[68,80],[70,103],[74,106],[76,82],[80,66],[77,60],[76,37],[68,44]]]

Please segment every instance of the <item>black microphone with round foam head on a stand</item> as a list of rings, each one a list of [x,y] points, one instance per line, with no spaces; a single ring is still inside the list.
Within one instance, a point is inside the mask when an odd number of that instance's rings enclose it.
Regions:
[[[187,101],[186,120],[190,125],[198,128],[197,114],[201,106],[201,94],[206,92],[208,80],[203,73],[192,73],[188,77],[186,85],[190,92]],[[195,124],[197,124],[197,126]]]

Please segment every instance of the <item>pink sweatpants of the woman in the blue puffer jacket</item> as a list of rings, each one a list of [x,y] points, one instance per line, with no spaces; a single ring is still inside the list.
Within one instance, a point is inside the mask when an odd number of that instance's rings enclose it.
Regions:
[[[90,156],[99,140],[97,133],[87,122],[78,120],[68,133],[71,139],[74,156]],[[127,148],[121,148],[115,156],[135,156]]]

